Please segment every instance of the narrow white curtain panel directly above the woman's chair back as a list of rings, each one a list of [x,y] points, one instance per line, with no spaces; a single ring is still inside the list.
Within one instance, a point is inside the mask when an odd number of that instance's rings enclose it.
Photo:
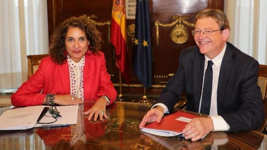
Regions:
[[[27,55],[48,53],[46,0],[24,0]]]

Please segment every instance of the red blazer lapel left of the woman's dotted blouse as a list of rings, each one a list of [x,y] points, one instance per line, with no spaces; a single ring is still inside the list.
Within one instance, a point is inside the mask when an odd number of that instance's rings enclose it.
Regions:
[[[59,67],[59,74],[60,74],[60,79],[61,83],[64,88],[65,94],[70,93],[70,81],[69,81],[69,66],[68,63],[64,63],[63,65],[58,65]]]

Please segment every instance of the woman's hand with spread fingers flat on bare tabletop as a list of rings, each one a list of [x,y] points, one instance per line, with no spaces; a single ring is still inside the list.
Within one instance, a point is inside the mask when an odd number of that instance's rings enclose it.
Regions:
[[[84,112],[84,115],[88,115],[88,120],[91,120],[91,118],[94,115],[94,121],[96,121],[98,115],[100,120],[103,120],[103,116],[105,118],[107,118],[106,115],[106,105],[107,105],[107,100],[104,97],[101,97],[98,99],[98,101],[96,101],[96,103],[93,105],[93,107],[91,109],[89,109],[87,112]],[[102,112],[103,111],[103,112]]]

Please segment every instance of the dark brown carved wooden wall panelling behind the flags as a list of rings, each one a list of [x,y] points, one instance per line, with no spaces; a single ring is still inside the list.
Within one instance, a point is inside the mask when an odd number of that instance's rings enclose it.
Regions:
[[[194,46],[194,38],[191,30],[194,27],[183,24],[188,31],[188,40],[183,44],[174,43],[171,39],[172,27],[159,26],[159,43],[156,43],[156,25],[159,21],[162,24],[170,24],[176,19],[171,19],[173,15],[183,16],[189,18],[188,22],[194,22],[195,15],[206,8],[215,8],[223,10],[223,0],[149,0],[150,3],[150,28],[152,36],[152,51],[153,51],[153,87],[147,90],[147,94],[158,95],[161,92],[162,85],[165,85],[171,76],[169,74],[175,73],[178,66],[178,58],[181,50],[189,46]],[[93,20],[97,22],[106,22],[111,20],[112,0],[47,0],[48,7],[48,28],[49,37],[52,35],[54,29],[70,16],[80,15],[96,15],[97,18]],[[133,19],[127,19],[127,26],[134,24]],[[108,28],[107,25],[97,26],[98,30],[102,32],[103,45],[101,51],[105,53],[106,67],[111,75],[111,80],[115,85],[119,83],[119,71],[115,64],[113,54],[113,46],[108,42]],[[130,72],[130,87],[123,87],[123,93],[135,93],[142,95],[144,90],[140,87],[140,82],[134,75],[132,70],[132,49],[133,42],[130,37],[127,37],[128,54],[129,54],[129,72]],[[124,80],[122,80],[123,83]],[[118,90],[118,87],[116,86]]]

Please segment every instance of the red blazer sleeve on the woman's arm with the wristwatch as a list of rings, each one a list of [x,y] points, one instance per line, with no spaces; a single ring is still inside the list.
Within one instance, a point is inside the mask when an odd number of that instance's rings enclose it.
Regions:
[[[114,89],[114,85],[110,80],[110,75],[106,69],[106,60],[103,55],[101,57],[101,69],[100,69],[100,81],[99,81],[99,91],[96,94],[95,100],[97,101],[101,96],[106,95],[110,98],[110,104],[113,103],[117,97],[117,91]]]

